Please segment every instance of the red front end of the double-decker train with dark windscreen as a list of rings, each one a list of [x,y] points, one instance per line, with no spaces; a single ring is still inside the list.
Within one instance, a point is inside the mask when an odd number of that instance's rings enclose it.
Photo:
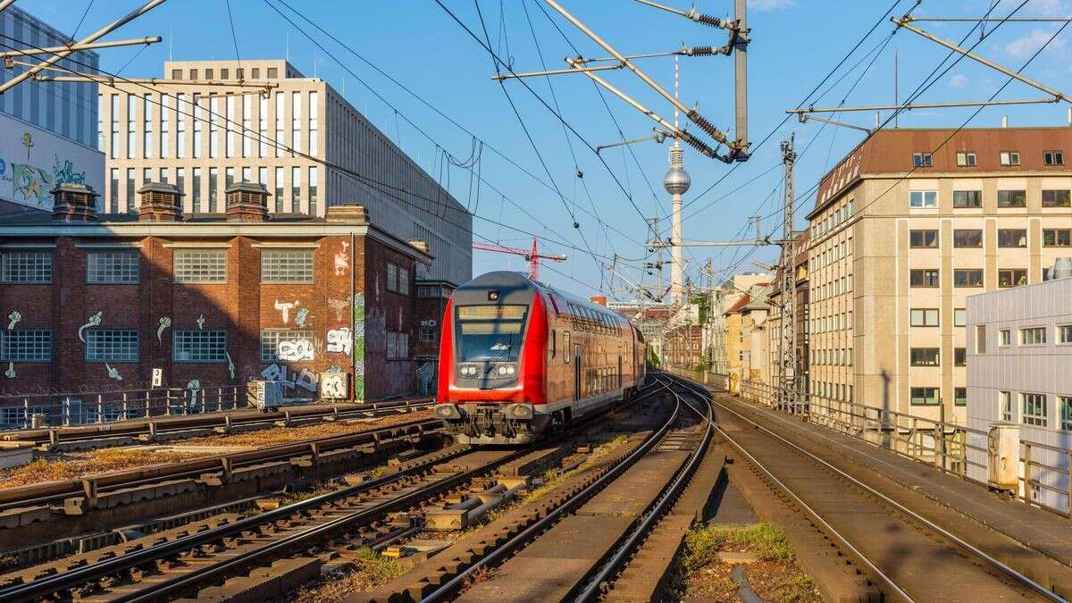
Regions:
[[[515,273],[489,273],[455,290],[440,339],[438,400],[458,443],[521,444],[545,412],[547,315],[539,289]]]

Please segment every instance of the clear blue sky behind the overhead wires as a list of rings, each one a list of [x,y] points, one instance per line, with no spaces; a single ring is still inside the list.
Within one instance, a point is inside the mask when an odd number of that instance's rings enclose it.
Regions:
[[[575,47],[587,58],[606,53],[545,0],[442,1],[445,9],[436,0],[168,0],[107,36],[160,35],[164,41],[140,48],[103,49],[101,68],[129,77],[160,77],[163,61],[169,57],[234,59],[237,54],[240,59],[288,58],[304,75],[324,78],[344,93],[448,187],[476,216],[475,241],[527,248],[534,235],[540,237],[541,251],[568,256],[562,263],[545,262],[541,280],[579,295],[629,299],[637,296],[638,285],[654,288],[656,277],[642,268],[643,262],[654,260],[644,246],[651,236],[644,219],[660,217],[664,237],[669,236],[670,201],[661,182],[670,142],[645,141],[596,155],[596,147],[620,142],[623,136],[651,135],[655,122],[609,92],[598,92],[580,74],[494,82],[490,76],[496,63],[480,41],[490,42],[515,72],[565,68],[563,59],[576,56]],[[661,1],[688,9],[684,0]],[[995,1],[994,17],[1013,11],[1016,17],[1072,14],[1072,0],[900,0],[892,14],[899,16],[911,10],[913,17],[979,17]],[[559,2],[624,54],[669,52],[683,44],[720,46],[727,39],[725,30],[629,0]],[[19,0],[16,5],[77,38],[143,3]],[[893,3],[748,0],[753,155],[747,162],[727,165],[686,149],[685,167],[693,186],[684,200],[685,239],[755,237],[750,216],[762,217],[764,235],[779,235],[783,173],[778,143],[791,135],[799,155],[795,227],[806,226],[803,216],[815,203],[817,181],[865,134],[815,121],[801,123],[795,117],[785,120],[787,108],[805,100],[806,106],[892,103],[895,79],[902,100],[922,90],[917,102],[923,103],[985,100],[1006,84],[1007,76],[969,59],[954,64],[955,57],[949,58],[949,50],[915,33],[902,29],[894,34],[895,26],[881,19]],[[727,17],[732,15],[733,2],[698,0],[697,9]],[[865,38],[877,21],[881,23]],[[1068,43],[1072,27],[1052,38],[1062,24],[991,24],[980,40],[981,31],[973,23],[914,25],[954,42],[967,35],[965,45],[978,43],[977,53],[1014,70],[1044,47],[1024,69],[1024,75],[1072,92],[1072,48]],[[809,97],[843,59],[840,68]],[[642,59],[636,64],[659,85],[673,88],[672,58]],[[502,65],[500,69],[506,71]],[[935,76],[928,78],[932,73]],[[655,113],[673,119],[671,105],[638,76],[627,70],[600,75]],[[733,137],[731,58],[682,57],[680,89],[686,106],[696,106]],[[1043,97],[1013,82],[997,98]],[[987,107],[968,127],[998,126],[1002,116],[1009,117],[1011,126],[1064,124],[1067,108],[1064,104]],[[974,111],[914,109],[902,113],[897,122],[902,128],[959,127]],[[889,115],[883,112],[881,118]],[[849,113],[838,119],[872,127],[876,116]],[[687,123],[684,117],[682,123]],[[696,128],[690,132],[699,133]],[[374,215],[372,218],[375,220]],[[717,283],[738,271],[758,269],[754,261],[775,262],[778,248],[689,248],[684,256],[686,277],[705,284],[706,277],[699,268],[708,259]],[[609,270],[614,258],[620,258],[617,268]],[[474,252],[474,275],[494,269],[524,270],[526,263],[519,256]],[[669,271],[667,262],[667,278]]]

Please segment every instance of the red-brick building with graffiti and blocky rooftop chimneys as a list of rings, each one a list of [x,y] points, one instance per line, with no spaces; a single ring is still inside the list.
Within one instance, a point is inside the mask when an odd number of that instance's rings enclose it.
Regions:
[[[138,215],[99,216],[92,189],[61,185],[51,215],[0,224],[0,388],[148,384],[188,388],[271,379],[314,397],[376,399],[416,387],[410,341],[423,241],[396,238],[360,205],[272,217],[259,185],[226,191],[226,214],[184,217],[151,183]]]

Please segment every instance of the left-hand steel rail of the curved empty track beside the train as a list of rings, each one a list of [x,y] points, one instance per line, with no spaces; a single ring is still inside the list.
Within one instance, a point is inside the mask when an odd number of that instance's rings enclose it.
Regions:
[[[661,385],[662,385],[661,388],[669,389],[669,387],[667,387],[665,384]],[[656,392],[661,391],[661,388],[656,388],[653,392],[645,394],[643,397],[655,394]],[[607,484],[617,479],[617,476],[623,471],[631,467],[637,460],[640,459],[640,457],[647,454],[647,452],[655,445],[655,443],[660,441],[662,437],[666,436],[667,431],[670,430],[670,427],[674,424],[674,422],[676,422],[680,410],[681,410],[681,400],[679,399],[678,402],[674,405],[673,412],[670,413],[670,416],[667,418],[666,423],[664,423],[662,426],[659,427],[657,431],[649,436],[643,443],[637,446],[637,450],[632,451],[632,453],[630,453],[628,456],[622,459],[617,465],[615,465],[609,471],[604,473],[599,479],[590,484],[583,490],[574,495],[569,500],[563,502],[561,505],[550,511],[539,520],[528,526],[527,528],[516,534],[507,542],[500,545],[497,548],[492,550],[486,557],[476,561],[475,563],[473,563],[472,565],[460,572],[458,575],[456,575],[451,579],[441,585],[437,589],[429,593],[428,597],[421,599],[421,603],[433,603],[435,601],[446,600],[459,587],[462,586],[462,583],[465,582],[465,578],[468,577],[473,572],[477,571],[480,568],[496,563],[497,561],[502,560],[504,557],[506,557],[506,555],[513,551],[522,543],[526,542],[533,534],[539,533],[541,530],[553,525],[566,512],[571,511],[575,506],[579,505],[581,502],[587,500],[592,495],[606,487]]]

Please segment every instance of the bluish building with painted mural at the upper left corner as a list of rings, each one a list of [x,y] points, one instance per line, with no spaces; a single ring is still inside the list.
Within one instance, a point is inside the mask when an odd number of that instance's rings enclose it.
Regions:
[[[62,46],[70,39],[15,6],[0,12],[0,50]],[[36,63],[49,55],[17,57]],[[98,55],[78,50],[59,62],[95,73]],[[28,68],[0,67],[0,83]],[[49,191],[62,182],[99,188],[104,156],[96,149],[96,84],[27,79],[0,94],[0,217],[51,211]]]

